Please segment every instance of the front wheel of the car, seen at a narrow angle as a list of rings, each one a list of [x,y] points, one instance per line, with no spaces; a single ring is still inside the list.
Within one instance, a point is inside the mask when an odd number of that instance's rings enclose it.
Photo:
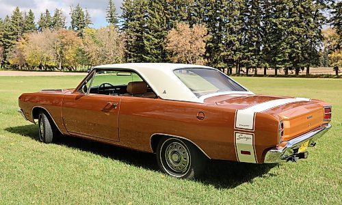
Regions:
[[[39,139],[44,143],[51,143],[55,138],[55,124],[46,113],[40,111],[38,118]]]

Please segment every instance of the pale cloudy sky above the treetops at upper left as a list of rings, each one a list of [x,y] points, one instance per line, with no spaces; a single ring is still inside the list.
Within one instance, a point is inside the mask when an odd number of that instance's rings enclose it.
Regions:
[[[18,6],[22,12],[28,12],[31,9],[36,17],[36,22],[40,13],[48,9],[53,15],[53,11],[58,8],[62,9],[66,16],[67,25],[70,25],[70,6],[75,6],[77,3],[82,8],[87,8],[92,17],[92,27],[105,27],[107,21],[105,19],[105,10],[109,0],[0,0],[0,18],[5,18],[6,15],[11,15],[13,10]],[[113,0],[116,5],[116,11],[121,14],[122,0]]]

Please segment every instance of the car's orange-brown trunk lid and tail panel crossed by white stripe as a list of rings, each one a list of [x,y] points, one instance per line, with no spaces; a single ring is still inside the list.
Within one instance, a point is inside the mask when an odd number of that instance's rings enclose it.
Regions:
[[[215,106],[237,109],[238,112],[262,112],[282,119],[285,126],[283,140],[287,141],[321,125],[324,117],[321,101],[308,98],[291,98],[263,95],[225,95],[207,98]],[[215,103],[215,104],[214,104]],[[242,113],[243,115],[246,113]],[[235,119],[237,121],[237,118]],[[252,120],[250,120],[251,126]]]

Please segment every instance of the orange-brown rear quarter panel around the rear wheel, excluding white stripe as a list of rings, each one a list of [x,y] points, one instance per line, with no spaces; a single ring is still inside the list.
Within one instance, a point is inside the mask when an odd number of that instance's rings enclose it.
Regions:
[[[205,113],[202,121],[196,118],[199,112]],[[265,113],[258,113],[257,118],[261,120],[256,122],[254,146],[256,161],[262,162],[264,150],[278,143],[278,122]],[[122,98],[120,145],[150,152],[150,137],[161,133],[193,141],[211,159],[237,161],[234,120],[235,109],[222,108],[215,104]]]

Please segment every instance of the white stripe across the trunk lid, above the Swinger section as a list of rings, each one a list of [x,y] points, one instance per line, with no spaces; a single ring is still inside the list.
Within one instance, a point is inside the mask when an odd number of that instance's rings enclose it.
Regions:
[[[245,109],[239,109],[235,113],[235,128],[254,131],[254,118],[255,113],[267,111],[269,109],[273,109],[274,107],[278,107],[280,105],[286,105],[293,102],[300,101],[310,101],[308,98],[282,98],[278,100],[269,100],[267,102],[262,102],[257,105],[253,105],[251,107],[247,107]]]

